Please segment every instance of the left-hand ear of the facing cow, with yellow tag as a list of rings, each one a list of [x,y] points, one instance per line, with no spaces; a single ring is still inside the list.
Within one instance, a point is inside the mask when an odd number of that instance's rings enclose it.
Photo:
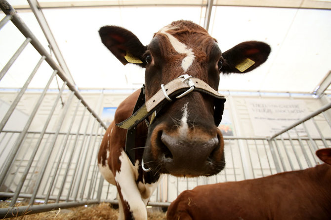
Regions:
[[[124,65],[145,65],[142,58],[147,46],[144,46],[132,32],[118,26],[104,26],[100,28],[99,35],[103,44]]]

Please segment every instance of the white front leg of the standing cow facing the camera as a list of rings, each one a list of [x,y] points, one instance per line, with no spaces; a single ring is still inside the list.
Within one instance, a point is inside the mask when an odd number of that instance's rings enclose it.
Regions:
[[[123,207],[123,209],[128,208],[134,220],[147,220],[146,206],[135,182],[138,164],[133,166],[124,151],[119,159],[121,160],[121,169],[116,171],[115,181],[120,186],[118,189],[120,189],[119,193],[121,193],[124,203],[126,202],[129,206]]]

